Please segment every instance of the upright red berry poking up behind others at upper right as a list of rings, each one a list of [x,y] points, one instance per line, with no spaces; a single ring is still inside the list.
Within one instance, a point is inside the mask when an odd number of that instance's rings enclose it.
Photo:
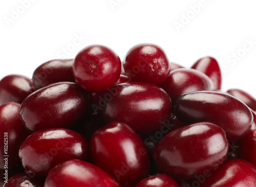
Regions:
[[[207,75],[214,83],[214,90],[221,89],[221,69],[219,63],[215,58],[201,58],[197,62],[195,62],[191,68],[197,69],[198,71],[203,72],[205,75]]]

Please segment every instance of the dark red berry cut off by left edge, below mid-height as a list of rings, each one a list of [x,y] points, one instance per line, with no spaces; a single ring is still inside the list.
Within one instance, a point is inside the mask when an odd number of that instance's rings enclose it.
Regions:
[[[3,140],[0,142],[0,169],[10,170],[20,163],[19,146],[29,135],[19,119],[19,107],[20,104],[15,102],[0,105],[0,137]],[[6,161],[8,164],[5,166]]]

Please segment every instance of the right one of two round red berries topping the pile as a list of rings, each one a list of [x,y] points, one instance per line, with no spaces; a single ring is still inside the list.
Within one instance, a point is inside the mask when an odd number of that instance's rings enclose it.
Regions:
[[[160,85],[169,75],[170,63],[163,49],[156,44],[141,43],[127,52],[123,64],[132,81]]]

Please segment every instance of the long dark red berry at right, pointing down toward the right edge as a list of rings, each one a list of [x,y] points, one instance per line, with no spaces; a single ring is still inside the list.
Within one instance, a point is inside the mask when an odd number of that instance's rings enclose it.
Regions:
[[[229,142],[242,142],[252,124],[250,109],[239,99],[223,92],[184,93],[176,102],[174,113],[185,124],[211,122],[222,127]]]

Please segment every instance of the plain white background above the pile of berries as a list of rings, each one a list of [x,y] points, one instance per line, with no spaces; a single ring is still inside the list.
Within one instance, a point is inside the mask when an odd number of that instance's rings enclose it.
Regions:
[[[74,58],[89,44],[108,45],[122,60],[133,45],[149,42],[185,67],[215,57],[224,69],[223,91],[256,97],[255,0],[12,0],[1,1],[0,18],[0,79],[31,78],[41,63]]]

